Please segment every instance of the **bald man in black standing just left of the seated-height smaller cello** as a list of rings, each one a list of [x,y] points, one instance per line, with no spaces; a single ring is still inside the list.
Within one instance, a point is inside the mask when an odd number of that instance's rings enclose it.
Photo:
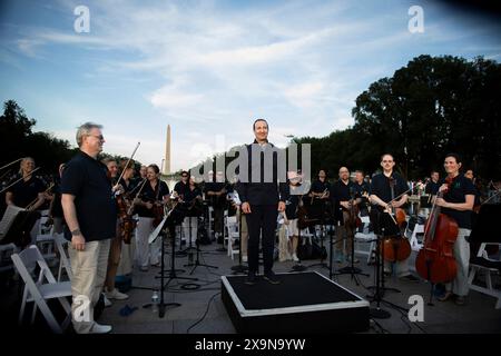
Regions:
[[[348,220],[351,212],[361,202],[361,198],[357,194],[355,184],[350,180],[350,170],[346,167],[340,168],[340,179],[332,185],[331,198],[334,201],[334,212],[336,214],[336,220],[341,224],[336,227],[336,243],[334,244],[334,257],[337,263],[344,260],[350,261],[352,256],[352,239],[355,231],[350,226]],[[345,244],[346,241],[346,244]],[[343,246],[346,245],[346,249]],[[346,250],[346,254],[344,251]],[[354,260],[357,263],[358,260]]]

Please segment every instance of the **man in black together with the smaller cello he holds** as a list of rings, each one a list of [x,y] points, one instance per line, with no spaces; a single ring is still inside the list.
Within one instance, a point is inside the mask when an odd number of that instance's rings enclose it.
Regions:
[[[383,172],[375,175],[371,182],[370,200],[373,205],[371,222],[376,235],[383,235],[384,230],[384,250],[392,256],[392,258],[383,256],[385,259],[385,274],[391,274],[391,268],[393,267],[399,278],[418,281],[419,279],[409,271],[411,248],[409,241],[402,237],[401,233],[402,224],[405,224],[405,212],[402,206],[407,202],[409,196],[406,191],[409,189],[402,176],[393,171],[394,166],[393,155],[384,154],[381,156]],[[394,263],[393,265],[392,261]]]

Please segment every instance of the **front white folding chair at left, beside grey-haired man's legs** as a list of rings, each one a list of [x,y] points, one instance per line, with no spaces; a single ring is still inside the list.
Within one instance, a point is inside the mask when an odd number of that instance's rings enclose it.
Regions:
[[[24,281],[24,290],[22,293],[21,309],[19,310],[19,324],[21,325],[24,316],[24,307],[29,301],[33,303],[33,312],[31,315],[31,324],[35,322],[35,316],[37,309],[40,308],[43,317],[46,318],[49,327],[53,333],[61,334],[63,329],[68,326],[71,320],[71,307],[66,297],[71,296],[71,283],[62,281],[57,283],[46,260],[43,259],[40,250],[37,246],[30,246],[20,254],[13,254],[11,256],[12,261]],[[40,267],[40,273],[37,281],[33,280],[29,269],[33,268],[36,265]],[[46,283],[47,280],[47,283]],[[59,303],[67,312],[67,317],[62,325],[60,325],[49,306],[47,300],[58,298]]]

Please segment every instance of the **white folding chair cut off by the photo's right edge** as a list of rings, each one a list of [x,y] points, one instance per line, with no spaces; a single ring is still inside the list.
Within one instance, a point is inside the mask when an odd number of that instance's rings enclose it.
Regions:
[[[487,294],[495,297],[495,309],[501,308],[501,290],[492,287],[491,274],[500,275],[501,260],[492,259],[488,256],[485,247],[488,245],[498,245],[501,248],[501,244],[498,243],[482,243],[479,248],[479,253],[474,258],[470,260],[470,274],[468,275],[468,285],[470,289]],[[501,256],[500,256],[501,259]],[[483,271],[485,274],[485,287],[483,285],[475,284],[477,273]]]

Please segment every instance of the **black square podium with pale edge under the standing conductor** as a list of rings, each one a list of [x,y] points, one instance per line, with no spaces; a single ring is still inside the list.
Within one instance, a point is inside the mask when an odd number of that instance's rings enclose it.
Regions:
[[[317,271],[222,277],[222,299],[238,333],[352,333],[369,329],[369,301]]]

